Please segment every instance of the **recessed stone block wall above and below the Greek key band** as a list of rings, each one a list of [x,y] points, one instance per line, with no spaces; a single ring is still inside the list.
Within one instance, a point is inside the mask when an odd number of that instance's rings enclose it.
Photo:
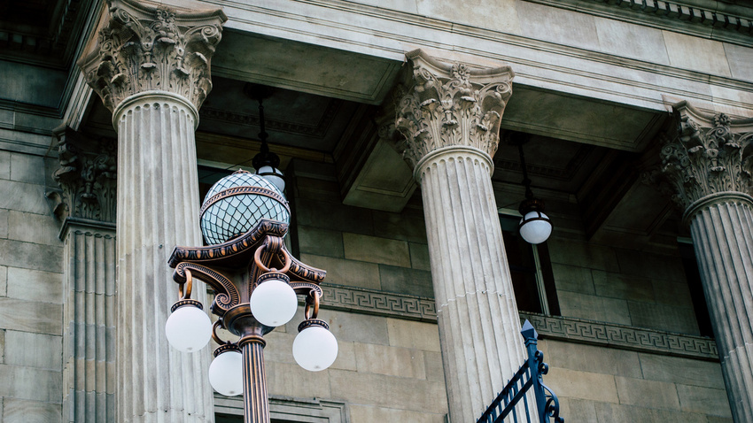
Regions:
[[[300,258],[327,269],[325,283],[431,296],[420,204],[402,213],[345,206],[330,176],[301,171],[305,167],[294,166],[289,185],[292,243]],[[584,327],[595,320],[697,334],[679,257],[557,237],[549,250],[563,316]],[[444,421],[439,334],[429,319],[343,307],[324,308],[321,316],[338,337],[338,360],[322,373],[300,369],[291,357],[300,316],[293,319],[268,335],[271,396],[342,401],[357,423]],[[732,421],[713,355],[673,357],[626,341],[621,348],[577,343],[588,342],[585,336],[540,342],[551,369],[545,383],[560,396],[567,421]]]

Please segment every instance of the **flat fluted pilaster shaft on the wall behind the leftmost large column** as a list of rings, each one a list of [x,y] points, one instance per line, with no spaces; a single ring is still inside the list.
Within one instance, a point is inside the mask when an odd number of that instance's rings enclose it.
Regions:
[[[68,219],[64,421],[115,421],[115,227]]]

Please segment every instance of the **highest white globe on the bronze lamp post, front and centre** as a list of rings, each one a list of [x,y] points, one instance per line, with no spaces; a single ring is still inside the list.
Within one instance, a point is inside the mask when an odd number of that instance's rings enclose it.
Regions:
[[[283,326],[298,309],[298,297],[290,285],[279,279],[263,281],[251,294],[251,312],[262,325]]]

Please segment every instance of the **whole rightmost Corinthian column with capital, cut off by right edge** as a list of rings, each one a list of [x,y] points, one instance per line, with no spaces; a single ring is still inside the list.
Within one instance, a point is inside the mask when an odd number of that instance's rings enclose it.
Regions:
[[[685,210],[735,422],[753,415],[753,119],[673,106],[662,171]]]

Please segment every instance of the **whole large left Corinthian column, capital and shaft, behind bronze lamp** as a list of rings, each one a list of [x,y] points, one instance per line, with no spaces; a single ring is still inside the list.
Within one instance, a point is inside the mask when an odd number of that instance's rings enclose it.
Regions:
[[[117,421],[213,421],[209,351],[171,349],[164,327],[177,298],[170,251],[201,243],[194,132],[227,18],[108,3],[79,65],[118,132]]]

